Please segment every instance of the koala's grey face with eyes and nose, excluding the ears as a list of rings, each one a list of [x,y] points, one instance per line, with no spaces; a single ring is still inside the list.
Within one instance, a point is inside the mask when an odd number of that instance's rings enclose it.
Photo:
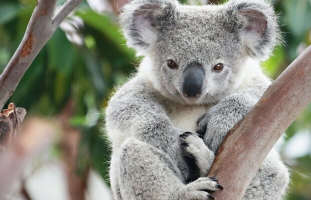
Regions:
[[[238,32],[228,28],[223,13],[208,9],[180,11],[159,30],[154,49],[153,67],[164,89],[188,103],[226,93],[241,69]]]

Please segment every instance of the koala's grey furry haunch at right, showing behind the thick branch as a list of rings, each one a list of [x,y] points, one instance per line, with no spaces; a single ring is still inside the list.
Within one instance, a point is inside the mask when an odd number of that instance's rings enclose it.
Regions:
[[[272,149],[247,188],[243,200],[280,200],[289,183],[287,167]]]

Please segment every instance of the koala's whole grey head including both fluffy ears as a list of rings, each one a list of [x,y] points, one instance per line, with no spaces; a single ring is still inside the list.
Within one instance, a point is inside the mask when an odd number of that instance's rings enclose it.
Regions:
[[[132,0],[120,22],[128,46],[149,60],[144,67],[156,88],[184,103],[226,95],[243,74],[243,60],[266,59],[279,36],[277,17],[265,0],[204,6]]]

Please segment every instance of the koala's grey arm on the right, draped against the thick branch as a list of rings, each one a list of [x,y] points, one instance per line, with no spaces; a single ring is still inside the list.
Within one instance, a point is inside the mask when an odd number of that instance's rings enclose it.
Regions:
[[[207,110],[198,120],[199,134],[206,145],[217,152],[228,131],[256,104],[266,87],[238,90]]]

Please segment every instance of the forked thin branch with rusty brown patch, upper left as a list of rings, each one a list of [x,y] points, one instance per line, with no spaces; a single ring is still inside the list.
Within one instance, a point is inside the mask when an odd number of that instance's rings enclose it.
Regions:
[[[67,0],[53,17],[57,0],[38,0],[25,35],[0,75],[0,109],[11,97],[29,65],[59,26],[82,0]],[[52,19],[53,18],[53,19]]]

